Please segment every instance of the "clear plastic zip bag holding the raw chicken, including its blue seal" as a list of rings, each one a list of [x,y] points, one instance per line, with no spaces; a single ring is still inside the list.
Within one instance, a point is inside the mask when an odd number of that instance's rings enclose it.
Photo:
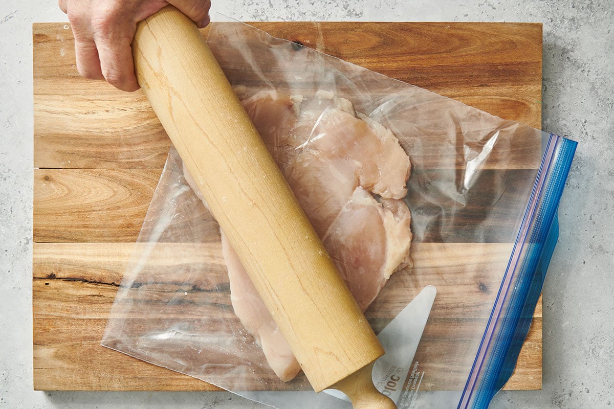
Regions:
[[[488,406],[528,331],[576,143],[242,23],[214,23],[208,44],[240,92],[333,93],[394,133],[411,158],[414,266],[391,276],[365,316],[377,334],[437,288],[397,405]],[[219,228],[174,148],[102,344],[274,407],[349,407],[271,370],[233,312]]]

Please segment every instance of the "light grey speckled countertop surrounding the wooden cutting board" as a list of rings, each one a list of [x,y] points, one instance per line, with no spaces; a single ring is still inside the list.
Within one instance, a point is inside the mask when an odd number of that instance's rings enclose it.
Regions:
[[[614,2],[573,0],[216,1],[239,20],[543,23],[543,129],[580,142],[545,284],[543,390],[491,408],[614,402]],[[32,387],[31,23],[66,21],[53,0],[0,3],[0,409],[263,408],[225,392],[35,392]]]

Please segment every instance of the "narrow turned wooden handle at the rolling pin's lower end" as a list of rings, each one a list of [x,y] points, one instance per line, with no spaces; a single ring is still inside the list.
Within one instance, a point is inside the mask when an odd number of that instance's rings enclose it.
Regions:
[[[352,402],[353,409],[397,409],[392,399],[379,392],[373,385],[371,378],[373,363],[343,378],[331,388],[346,394]]]

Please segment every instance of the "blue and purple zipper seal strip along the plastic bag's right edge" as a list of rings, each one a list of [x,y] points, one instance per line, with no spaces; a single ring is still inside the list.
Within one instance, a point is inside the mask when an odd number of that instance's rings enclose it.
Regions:
[[[578,143],[550,134],[510,261],[458,409],[488,408],[513,372],[559,234],[557,210]]]

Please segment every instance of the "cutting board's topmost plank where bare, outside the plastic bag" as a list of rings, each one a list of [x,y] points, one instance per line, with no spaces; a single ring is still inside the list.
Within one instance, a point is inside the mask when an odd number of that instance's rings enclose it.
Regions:
[[[273,36],[540,128],[541,25],[351,24],[253,23]],[[34,167],[163,166],[168,137],[140,91],[125,94],[79,77],[72,33],[62,24],[36,24],[33,41]]]

